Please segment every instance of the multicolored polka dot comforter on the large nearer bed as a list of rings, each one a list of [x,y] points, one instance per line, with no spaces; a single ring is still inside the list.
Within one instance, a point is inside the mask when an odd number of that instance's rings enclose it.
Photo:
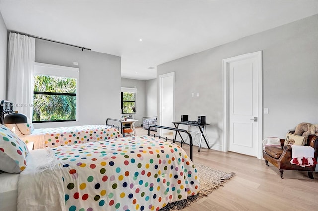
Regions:
[[[19,189],[18,205],[32,210],[53,206],[52,210],[66,211],[151,211],[199,190],[194,164],[180,146],[166,140],[133,136],[49,150],[54,155],[54,161],[47,162],[51,167],[24,177],[30,187],[41,183],[46,194],[33,191],[31,195],[40,195],[32,206],[34,202],[24,199]]]

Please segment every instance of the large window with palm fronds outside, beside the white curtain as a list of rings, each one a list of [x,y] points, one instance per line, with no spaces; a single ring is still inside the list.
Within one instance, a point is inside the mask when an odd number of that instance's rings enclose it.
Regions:
[[[36,63],[33,122],[76,121],[79,69]]]

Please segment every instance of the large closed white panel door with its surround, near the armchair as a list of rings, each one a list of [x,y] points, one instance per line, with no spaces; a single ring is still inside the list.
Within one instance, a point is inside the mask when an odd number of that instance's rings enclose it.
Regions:
[[[228,81],[228,151],[261,157],[261,52],[232,57],[224,62]]]

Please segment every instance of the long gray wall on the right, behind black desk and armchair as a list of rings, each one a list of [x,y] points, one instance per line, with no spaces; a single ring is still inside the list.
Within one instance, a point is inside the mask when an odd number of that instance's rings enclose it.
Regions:
[[[210,146],[222,146],[222,59],[260,50],[263,107],[269,109],[263,137],[284,138],[298,123],[318,123],[318,15],[157,66],[157,78],[175,72],[175,119],[205,115],[213,123]]]

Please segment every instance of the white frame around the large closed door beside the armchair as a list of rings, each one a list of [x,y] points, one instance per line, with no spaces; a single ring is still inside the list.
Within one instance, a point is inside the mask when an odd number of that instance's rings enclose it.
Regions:
[[[222,151],[229,150],[229,63],[248,58],[257,58],[258,60],[258,140],[257,140],[257,158],[262,159],[262,140],[263,140],[263,63],[262,51],[247,53],[222,60],[223,75],[223,144]]]

